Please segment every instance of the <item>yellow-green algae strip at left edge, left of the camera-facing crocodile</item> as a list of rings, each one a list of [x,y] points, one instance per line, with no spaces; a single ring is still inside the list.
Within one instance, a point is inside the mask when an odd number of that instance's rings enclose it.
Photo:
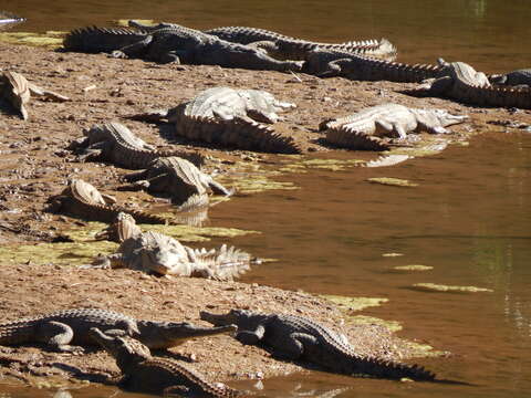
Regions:
[[[23,245],[4,245],[0,248],[0,261],[22,264],[90,264],[98,253],[113,252],[117,243],[107,241],[37,243]]]

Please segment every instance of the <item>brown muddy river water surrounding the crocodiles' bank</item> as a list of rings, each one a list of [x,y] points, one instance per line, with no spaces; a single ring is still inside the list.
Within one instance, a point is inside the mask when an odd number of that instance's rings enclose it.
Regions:
[[[24,30],[33,31],[142,18],[201,29],[256,25],[321,41],[386,36],[398,46],[399,61],[434,62],[442,56],[486,72],[531,64],[529,0],[56,0],[45,6],[17,0],[3,1],[2,8],[27,17]],[[371,177],[404,178],[418,186],[373,185],[366,181]],[[294,182],[296,190],[236,197],[212,208],[215,227],[262,232],[235,239],[233,244],[280,260],[256,268],[244,281],[316,294],[387,297],[388,303],[365,314],[398,321],[403,336],[452,353],[419,362],[442,378],[461,383],[400,384],[311,373],[264,380],[258,392],[316,397],[347,387],[342,397],[529,397],[530,178],[531,135],[488,133],[469,146],[394,168],[290,174],[282,180]],[[434,269],[393,271],[408,264]],[[492,292],[413,289],[425,282]],[[51,396],[20,387],[3,391]],[[133,397],[103,387],[70,394]]]

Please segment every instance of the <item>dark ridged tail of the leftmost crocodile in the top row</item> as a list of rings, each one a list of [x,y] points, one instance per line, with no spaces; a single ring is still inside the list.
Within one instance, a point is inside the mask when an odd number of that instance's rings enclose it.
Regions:
[[[146,33],[132,29],[107,29],[88,27],[74,29],[63,40],[67,51],[87,53],[112,52],[137,43],[146,38]]]

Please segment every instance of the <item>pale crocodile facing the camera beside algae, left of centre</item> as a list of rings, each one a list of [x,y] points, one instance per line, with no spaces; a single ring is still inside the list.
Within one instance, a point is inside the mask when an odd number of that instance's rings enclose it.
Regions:
[[[260,260],[233,247],[218,250],[192,249],[171,237],[135,228],[134,220],[117,220],[117,235],[123,239],[116,253],[98,256],[94,268],[129,268],[157,275],[198,276],[231,281]]]

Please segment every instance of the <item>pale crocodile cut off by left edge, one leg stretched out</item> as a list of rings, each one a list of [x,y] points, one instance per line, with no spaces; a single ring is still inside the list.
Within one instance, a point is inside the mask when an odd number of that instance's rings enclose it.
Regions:
[[[0,75],[0,97],[9,102],[23,121],[29,119],[27,106],[30,102],[31,94],[44,96],[58,102],[70,101],[70,98],[64,95],[44,90],[28,82],[20,73],[7,71]]]

